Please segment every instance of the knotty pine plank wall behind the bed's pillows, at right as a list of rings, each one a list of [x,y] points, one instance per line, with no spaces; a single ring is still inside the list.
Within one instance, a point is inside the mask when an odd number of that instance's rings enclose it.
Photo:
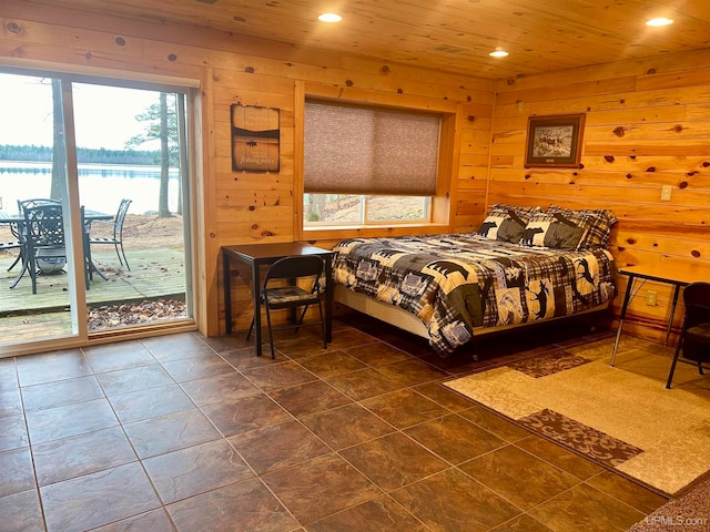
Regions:
[[[619,265],[710,266],[708,64],[704,51],[499,82],[488,203],[610,208],[619,218],[611,242]],[[528,115],[570,113],[586,113],[581,167],[525,168]],[[661,201],[665,185],[669,202]],[[648,290],[658,293],[656,306],[646,304]],[[647,283],[625,331],[662,337],[671,300],[667,285]]]

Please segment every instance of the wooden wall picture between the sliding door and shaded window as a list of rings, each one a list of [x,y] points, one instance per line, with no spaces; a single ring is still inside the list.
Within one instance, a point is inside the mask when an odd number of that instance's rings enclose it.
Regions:
[[[256,105],[232,105],[232,170],[278,172],[278,110]]]

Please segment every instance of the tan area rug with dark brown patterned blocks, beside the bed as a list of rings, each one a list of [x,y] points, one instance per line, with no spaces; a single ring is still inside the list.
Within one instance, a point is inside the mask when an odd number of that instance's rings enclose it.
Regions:
[[[611,340],[506,364],[449,388],[600,466],[667,495],[710,470],[710,375],[639,341],[609,366]]]

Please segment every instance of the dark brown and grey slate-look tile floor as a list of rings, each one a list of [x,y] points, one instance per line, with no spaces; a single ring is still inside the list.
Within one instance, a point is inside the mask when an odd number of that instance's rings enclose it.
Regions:
[[[609,532],[665,502],[440,386],[608,334],[479,340],[474,362],[335,327],[276,360],[243,334],[1,359],[0,530]]]

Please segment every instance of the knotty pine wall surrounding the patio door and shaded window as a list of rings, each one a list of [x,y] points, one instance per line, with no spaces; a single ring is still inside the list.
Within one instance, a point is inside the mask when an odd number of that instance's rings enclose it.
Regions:
[[[494,82],[397,64],[347,53],[294,49],[284,44],[196,28],[148,24],[91,16],[31,1],[0,7],[0,64],[59,69],[130,79],[196,80],[199,142],[195,198],[197,314],[200,330],[224,331],[220,246],[295,238],[294,137],[297,82],[331,88],[344,98],[393,104],[417,101],[422,109],[456,106],[460,120],[459,186],[450,188],[448,225],[470,229],[480,221],[487,180]],[[281,110],[281,171],[234,173],[230,106],[234,103]],[[456,174],[454,172],[454,174]],[[456,177],[456,175],[454,175]],[[457,181],[457,180],[453,180]],[[402,228],[400,233],[420,232]],[[321,243],[339,235],[322,234]],[[235,272],[236,328],[252,310],[247,272]]]

